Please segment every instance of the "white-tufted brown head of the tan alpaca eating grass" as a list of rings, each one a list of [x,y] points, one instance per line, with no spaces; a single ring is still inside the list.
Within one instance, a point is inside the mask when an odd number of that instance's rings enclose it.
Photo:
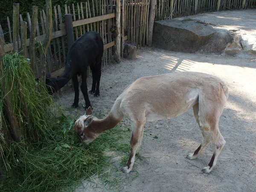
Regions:
[[[80,137],[81,141],[87,145],[99,136],[96,132],[96,127],[92,125],[93,119],[92,108],[89,107],[85,114],[80,116],[74,124],[76,134]]]

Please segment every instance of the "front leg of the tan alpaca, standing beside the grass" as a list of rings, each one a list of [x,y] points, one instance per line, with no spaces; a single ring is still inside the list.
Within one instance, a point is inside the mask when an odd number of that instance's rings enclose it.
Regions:
[[[130,142],[131,152],[130,152],[129,160],[127,162],[127,166],[123,167],[121,170],[124,173],[131,172],[131,170],[134,166],[135,154],[141,145],[141,140],[142,140],[143,131],[144,131],[144,125],[145,125],[145,122],[133,122],[132,123],[132,134],[131,134],[131,142]]]

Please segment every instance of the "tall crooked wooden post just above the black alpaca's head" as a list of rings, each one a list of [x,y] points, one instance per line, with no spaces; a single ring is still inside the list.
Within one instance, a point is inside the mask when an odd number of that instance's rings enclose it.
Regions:
[[[40,63],[41,63],[41,74],[40,79],[45,83],[46,74],[46,53],[51,42],[52,37],[52,1],[46,0],[46,22],[45,22],[45,38],[43,47],[40,49]]]

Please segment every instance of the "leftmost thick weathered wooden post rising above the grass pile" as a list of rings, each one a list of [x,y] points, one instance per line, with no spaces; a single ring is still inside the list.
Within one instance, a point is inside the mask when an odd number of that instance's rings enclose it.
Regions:
[[[19,52],[19,9],[20,4],[19,3],[13,3],[13,15],[12,15],[12,35],[13,35],[13,51]]]

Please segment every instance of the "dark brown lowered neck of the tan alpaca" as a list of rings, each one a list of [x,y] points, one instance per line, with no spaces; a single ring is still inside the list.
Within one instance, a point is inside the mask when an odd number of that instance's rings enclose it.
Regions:
[[[100,134],[114,128],[121,120],[122,117],[115,118],[112,113],[109,113],[104,119],[93,119],[92,125],[96,129],[95,132]]]

